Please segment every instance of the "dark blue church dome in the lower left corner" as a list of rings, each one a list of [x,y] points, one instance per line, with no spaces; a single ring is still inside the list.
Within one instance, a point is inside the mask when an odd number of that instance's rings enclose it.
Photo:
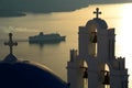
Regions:
[[[15,58],[8,55],[6,59],[10,57]],[[0,62],[1,88],[67,88],[67,84],[46,67],[31,62],[6,59]]]

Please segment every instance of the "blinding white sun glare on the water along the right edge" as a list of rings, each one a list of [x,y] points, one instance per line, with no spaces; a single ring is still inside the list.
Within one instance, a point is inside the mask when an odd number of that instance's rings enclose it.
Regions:
[[[121,43],[120,47],[123,56],[125,55],[127,68],[129,68],[129,74],[132,74],[132,3],[127,3],[122,7],[122,18],[121,18],[121,28],[119,35],[119,43]],[[119,51],[120,52],[120,51]],[[130,82],[132,81],[132,77],[129,77]],[[130,86],[132,86],[130,84]]]

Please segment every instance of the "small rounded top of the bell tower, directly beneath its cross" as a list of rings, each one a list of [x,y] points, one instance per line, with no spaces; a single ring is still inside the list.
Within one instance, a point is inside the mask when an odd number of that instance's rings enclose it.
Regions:
[[[86,23],[86,26],[90,26],[91,24],[96,24],[98,29],[107,29],[108,24],[105,20],[101,20],[99,18],[95,18],[94,20],[90,20]]]

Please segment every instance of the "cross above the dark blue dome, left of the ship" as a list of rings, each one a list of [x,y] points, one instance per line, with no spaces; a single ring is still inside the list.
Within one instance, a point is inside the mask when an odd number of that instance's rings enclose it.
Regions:
[[[9,33],[9,42],[6,42],[4,45],[9,45],[10,54],[12,54],[13,46],[16,46],[18,43],[12,41],[12,33]]]

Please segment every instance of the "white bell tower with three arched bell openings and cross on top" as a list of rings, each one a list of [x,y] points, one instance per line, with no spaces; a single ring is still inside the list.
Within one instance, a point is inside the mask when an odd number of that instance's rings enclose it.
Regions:
[[[85,78],[87,88],[128,88],[125,59],[114,56],[114,29],[108,29],[107,22],[99,18],[99,8],[94,13],[96,18],[79,26],[78,54],[76,50],[70,51],[67,63],[69,86],[84,88]],[[87,67],[84,67],[85,62]]]

